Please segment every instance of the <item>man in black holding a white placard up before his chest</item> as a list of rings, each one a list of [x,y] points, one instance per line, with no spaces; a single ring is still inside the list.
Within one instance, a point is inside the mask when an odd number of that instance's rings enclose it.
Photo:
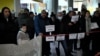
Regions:
[[[71,34],[71,33],[77,33],[78,32],[78,23],[77,22],[71,22],[72,16],[76,15],[74,11],[69,11],[69,13],[65,16],[65,19],[63,20],[64,22],[64,31],[66,34]],[[70,40],[68,39],[69,36],[66,36],[66,40],[68,43],[68,54],[72,56],[73,52],[73,44],[74,44],[74,49],[77,48],[77,40]]]

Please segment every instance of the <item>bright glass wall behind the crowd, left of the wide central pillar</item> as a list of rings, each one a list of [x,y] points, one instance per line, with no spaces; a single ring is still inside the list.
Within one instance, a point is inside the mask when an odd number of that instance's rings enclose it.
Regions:
[[[32,0],[20,0],[21,8],[28,8],[32,12],[36,12],[37,14],[41,12],[41,10],[46,8],[46,5],[41,2],[36,2]]]

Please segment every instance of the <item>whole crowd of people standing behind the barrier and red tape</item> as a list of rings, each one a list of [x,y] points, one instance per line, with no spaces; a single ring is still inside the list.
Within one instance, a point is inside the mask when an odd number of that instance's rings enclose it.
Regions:
[[[85,32],[85,37],[80,39],[80,48],[77,48],[77,39],[70,40],[69,36],[65,36],[65,40],[58,41],[56,47],[57,56],[60,56],[59,43],[62,44],[65,56],[72,56],[73,43],[74,49],[82,49],[82,56],[99,56],[100,55],[100,11],[96,10],[93,15],[87,10],[82,9],[81,12],[75,11],[51,13],[42,10],[40,14],[34,15],[28,9],[23,9],[14,17],[8,7],[2,8],[0,13],[0,44],[20,44],[18,41],[31,40],[36,36],[42,36],[42,56],[49,56],[50,42],[45,40],[46,25],[55,25],[55,31],[52,34],[71,34]],[[72,22],[72,16],[78,15],[78,21]],[[97,23],[96,29],[91,29],[91,23]],[[98,31],[90,33],[92,31]],[[56,37],[55,37],[56,38]],[[92,41],[92,49],[90,42]]]

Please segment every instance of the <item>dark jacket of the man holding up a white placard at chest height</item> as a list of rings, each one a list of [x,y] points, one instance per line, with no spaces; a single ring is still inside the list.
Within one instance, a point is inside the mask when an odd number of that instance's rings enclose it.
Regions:
[[[76,24],[71,22],[71,17],[69,17],[68,15],[66,15],[64,17],[63,23],[64,23],[64,31],[65,31],[65,33],[77,33],[77,32],[79,32],[78,22],[76,22]],[[69,26],[68,25],[69,23],[72,23],[73,25]]]

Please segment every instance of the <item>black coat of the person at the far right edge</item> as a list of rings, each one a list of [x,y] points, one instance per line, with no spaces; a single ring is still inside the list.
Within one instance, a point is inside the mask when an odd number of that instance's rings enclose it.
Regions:
[[[100,17],[93,16],[92,22],[96,22],[99,28],[92,31],[100,31]],[[91,34],[93,37],[93,51],[94,53],[100,52],[100,32],[95,32]]]

